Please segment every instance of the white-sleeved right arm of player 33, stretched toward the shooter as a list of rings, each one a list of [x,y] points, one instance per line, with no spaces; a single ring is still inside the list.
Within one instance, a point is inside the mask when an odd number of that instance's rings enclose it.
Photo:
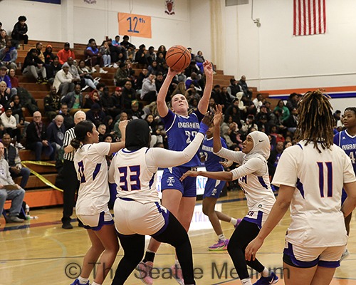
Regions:
[[[147,167],[174,167],[182,165],[191,160],[193,155],[197,153],[203,139],[204,135],[198,133],[194,140],[181,152],[165,150],[160,147],[150,148],[146,155]]]

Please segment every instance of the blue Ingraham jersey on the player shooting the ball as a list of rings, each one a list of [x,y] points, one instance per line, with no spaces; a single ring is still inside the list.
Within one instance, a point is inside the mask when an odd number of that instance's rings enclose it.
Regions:
[[[202,115],[199,110],[187,117],[175,115],[171,110],[169,110],[167,115],[162,118],[164,129],[166,130],[168,137],[169,150],[184,150],[184,148],[187,147],[192,140],[194,140],[195,135],[199,132],[200,121],[203,118],[204,115]],[[167,157],[167,160],[169,160],[169,157]],[[199,165],[199,152],[197,152],[192,160],[182,166],[194,167]]]

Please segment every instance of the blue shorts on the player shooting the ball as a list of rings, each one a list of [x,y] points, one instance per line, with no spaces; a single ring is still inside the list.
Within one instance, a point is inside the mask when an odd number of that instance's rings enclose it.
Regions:
[[[161,189],[176,189],[182,192],[183,197],[197,197],[197,177],[186,177],[183,182],[179,179],[189,170],[197,170],[197,167],[169,167],[164,168]]]

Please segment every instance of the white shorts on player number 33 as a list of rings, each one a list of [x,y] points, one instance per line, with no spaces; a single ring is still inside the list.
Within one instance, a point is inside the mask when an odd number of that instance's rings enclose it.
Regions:
[[[117,198],[114,204],[115,227],[119,234],[154,236],[166,229],[169,211],[158,202],[142,204]]]

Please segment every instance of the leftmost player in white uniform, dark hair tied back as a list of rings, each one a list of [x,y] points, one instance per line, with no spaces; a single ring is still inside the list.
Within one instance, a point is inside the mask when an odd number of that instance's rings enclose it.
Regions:
[[[121,133],[125,133],[127,121],[120,122]],[[87,229],[92,247],[85,254],[82,270],[72,285],[89,284],[90,272],[97,264],[92,285],[103,284],[119,250],[114,221],[109,212],[110,198],[108,186],[108,167],[105,155],[117,152],[125,146],[123,142],[99,142],[99,133],[95,125],[88,121],[75,125],[75,138],[70,144],[77,150],[74,155],[74,167],[78,173],[80,187],[75,212]],[[82,145],[81,145],[82,144]]]

